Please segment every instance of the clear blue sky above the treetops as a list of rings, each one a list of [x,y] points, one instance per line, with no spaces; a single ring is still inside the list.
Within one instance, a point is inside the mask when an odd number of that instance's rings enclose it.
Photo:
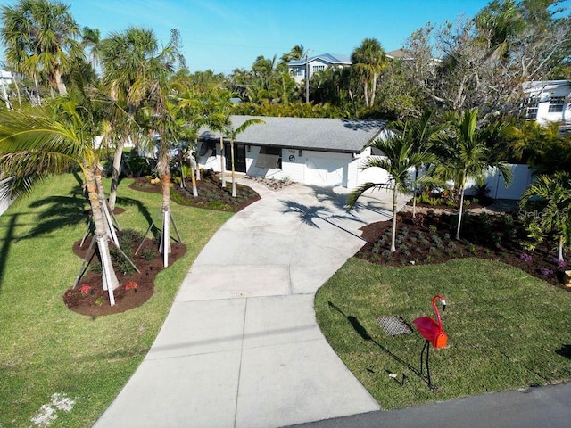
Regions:
[[[3,1],[2,4],[15,4]],[[350,55],[366,37],[401,47],[426,22],[473,17],[487,0],[63,0],[80,26],[102,36],[128,26],[153,29],[163,44],[178,29],[191,71],[251,69],[259,55],[279,58],[294,45],[310,55]],[[2,51],[4,57],[4,51]]]

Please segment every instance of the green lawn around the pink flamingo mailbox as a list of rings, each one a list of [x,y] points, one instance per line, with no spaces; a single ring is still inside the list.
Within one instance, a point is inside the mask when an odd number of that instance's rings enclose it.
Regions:
[[[424,339],[389,336],[377,317],[414,327],[446,297],[449,346],[430,351],[431,391],[418,375]],[[331,304],[330,304],[331,303]],[[484,259],[389,268],[350,259],[316,296],[321,330],[385,409],[571,379],[571,293]],[[397,374],[404,386],[389,374]]]

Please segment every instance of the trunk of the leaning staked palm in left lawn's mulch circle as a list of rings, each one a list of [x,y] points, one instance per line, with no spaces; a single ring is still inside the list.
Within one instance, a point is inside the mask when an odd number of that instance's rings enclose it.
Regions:
[[[98,167],[95,167],[98,168]],[[89,204],[91,205],[91,212],[93,213],[93,221],[95,225],[95,240],[97,249],[99,251],[99,258],[103,269],[103,290],[109,290],[110,300],[112,304],[112,291],[119,287],[119,281],[115,275],[115,270],[112,266],[111,254],[109,253],[109,235],[105,230],[105,219],[103,218],[103,210],[97,192],[97,182],[95,179],[95,171],[93,167],[88,167],[86,172],[86,186]]]

